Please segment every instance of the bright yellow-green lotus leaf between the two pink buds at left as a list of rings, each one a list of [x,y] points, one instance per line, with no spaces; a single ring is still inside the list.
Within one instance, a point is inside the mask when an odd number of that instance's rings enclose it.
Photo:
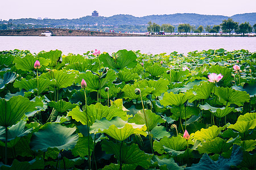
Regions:
[[[54,79],[56,81],[55,87],[59,89],[72,86],[75,76],[74,73],[65,70],[51,70],[40,75],[44,79]]]

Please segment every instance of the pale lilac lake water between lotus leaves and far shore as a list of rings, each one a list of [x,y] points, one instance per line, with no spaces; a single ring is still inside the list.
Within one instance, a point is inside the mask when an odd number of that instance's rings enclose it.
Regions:
[[[228,51],[247,49],[256,52],[256,37],[30,37],[0,36],[0,51],[59,49],[63,54],[83,54],[98,49],[113,53],[120,49],[141,50],[141,53],[160,54],[224,48]]]

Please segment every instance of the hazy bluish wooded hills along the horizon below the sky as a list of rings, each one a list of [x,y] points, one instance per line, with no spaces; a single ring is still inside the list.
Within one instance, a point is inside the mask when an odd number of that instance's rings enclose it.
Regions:
[[[12,22],[13,24],[48,24],[48,25],[85,25],[85,24],[98,24],[98,25],[146,25],[148,22],[157,24],[173,24],[188,23],[192,25],[218,25],[222,20],[232,18],[239,24],[249,22],[251,25],[256,23],[256,12],[237,14],[231,17],[222,15],[200,15],[200,14],[171,14],[171,15],[149,15],[143,17],[135,17],[133,15],[113,15],[110,17],[105,16],[84,16],[78,19],[15,19],[9,21],[2,21],[0,23]]]

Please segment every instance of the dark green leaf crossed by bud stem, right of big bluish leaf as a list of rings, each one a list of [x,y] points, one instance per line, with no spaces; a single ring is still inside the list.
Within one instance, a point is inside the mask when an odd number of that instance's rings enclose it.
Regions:
[[[92,155],[93,152],[93,139],[92,137],[89,137],[90,141],[90,155]],[[79,140],[77,141],[75,147],[71,150],[72,155],[74,156],[88,156],[88,137],[79,137]]]

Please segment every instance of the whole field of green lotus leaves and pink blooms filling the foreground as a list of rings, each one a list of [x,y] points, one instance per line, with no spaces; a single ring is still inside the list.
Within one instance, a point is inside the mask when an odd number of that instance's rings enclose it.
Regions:
[[[0,169],[255,169],[255,58],[0,52]]]

